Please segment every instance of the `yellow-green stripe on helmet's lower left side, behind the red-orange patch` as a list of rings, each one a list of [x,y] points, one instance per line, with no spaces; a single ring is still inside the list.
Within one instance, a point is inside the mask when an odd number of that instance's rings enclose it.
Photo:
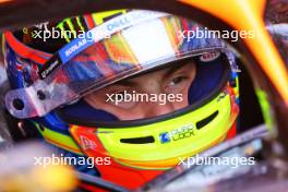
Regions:
[[[64,148],[67,151],[70,151],[72,153],[83,155],[81,152],[81,148],[77,146],[77,144],[74,142],[73,139],[71,139],[69,135],[61,134],[59,132],[52,131],[48,128],[45,128],[44,130],[40,129],[38,123],[35,123],[36,128],[45,137],[45,140],[58,147]]]

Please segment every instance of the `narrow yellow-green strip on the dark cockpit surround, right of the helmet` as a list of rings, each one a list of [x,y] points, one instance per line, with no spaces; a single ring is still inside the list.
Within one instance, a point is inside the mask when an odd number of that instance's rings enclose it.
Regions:
[[[267,98],[267,95],[265,92],[263,92],[261,88],[256,88],[256,96],[259,98],[259,103],[262,109],[263,118],[266,123],[266,128],[269,132],[274,132],[275,130],[273,129],[274,120],[272,117],[272,110],[269,106],[269,101]]]

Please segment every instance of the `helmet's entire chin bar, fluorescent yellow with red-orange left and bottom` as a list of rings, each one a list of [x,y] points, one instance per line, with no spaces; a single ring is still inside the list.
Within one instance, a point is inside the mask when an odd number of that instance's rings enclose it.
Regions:
[[[129,129],[71,125],[69,131],[88,157],[110,159],[109,166],[97,166],[103,179],[136,189],[177,166],[180,157],[190,157],[227,139],[236,129],[239,112],[228,89],[197,110],[152,124]],[[217,111],[213,118],[212,111]],[[169,139],[164,140],[164,134]],[[153,140],[141,141],[148,136]],[[113,171],[119,173],[111,175]]]

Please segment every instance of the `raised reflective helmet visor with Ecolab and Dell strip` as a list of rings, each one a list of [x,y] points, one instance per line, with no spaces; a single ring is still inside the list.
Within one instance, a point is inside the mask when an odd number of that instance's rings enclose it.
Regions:
[[[143,20],[141,14],[133,11],[112,19],[64,46],[41,70],[41,80],[7,94],[10,112],[17,118],[43,117],[128,76],[225,48],[217,38],[200,38],[206,28],[193,22],[157,12]]]

